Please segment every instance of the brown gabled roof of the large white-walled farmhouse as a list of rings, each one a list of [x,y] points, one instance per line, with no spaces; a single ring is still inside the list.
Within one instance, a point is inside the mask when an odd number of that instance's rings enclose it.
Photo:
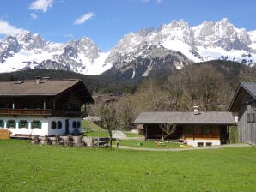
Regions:
[[[64,91],[77,87],[82,90],[81,97],[86,102],[94,102],[81,80],[41,80],[36,81],[0,81],[0,97],[21,96],[57,96]]]

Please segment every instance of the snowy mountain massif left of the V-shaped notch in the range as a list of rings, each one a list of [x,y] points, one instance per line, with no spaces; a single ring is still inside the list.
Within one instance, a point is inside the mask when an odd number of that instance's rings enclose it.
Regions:
[[[107,55],[86,37],[61,44],[46,42],[39,34],[23,31],[0,41],[0,72],[64,69],[101,74],[111,67],[104,62]]]

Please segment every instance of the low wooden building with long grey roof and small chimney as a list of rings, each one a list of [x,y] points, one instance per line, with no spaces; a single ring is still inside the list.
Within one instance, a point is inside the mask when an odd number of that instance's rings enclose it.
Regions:
[[[235,124],[231,112],[224,111],[166,111],[142,112],[134,123],[143,124],[145,139],[161,139],[162,123],[176,124],[170,139],[185,140],[190,146],[221,145],[228,140],[227,126]]]

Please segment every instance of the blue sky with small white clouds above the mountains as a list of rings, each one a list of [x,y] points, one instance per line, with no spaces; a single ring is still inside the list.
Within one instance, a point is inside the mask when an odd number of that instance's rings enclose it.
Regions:
[[[88,37],[110,51],[125,34],[180,19],[190,26],[228,18],[256,30],[255,0],[1,0],[0,38],[21,30],[53,42]]]

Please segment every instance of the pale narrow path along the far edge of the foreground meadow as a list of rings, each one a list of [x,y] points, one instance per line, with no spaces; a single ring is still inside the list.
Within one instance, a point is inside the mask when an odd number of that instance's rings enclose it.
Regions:
[[[238,144],[228,144],[222,146],[210,146],[210,147],[191,147],[191,148],[169,148],[169,151],[189,151],[189,150],[204,150],[204,149],[218,149],[218,148],[229,148],[229,147],[250,147],[251,145],[246,143]],[[119,146],[121,149],[131,149],[137,151],[167,151],[167,149],[159,148],[143,148],[143,147],[128,147],[128,146]]]

